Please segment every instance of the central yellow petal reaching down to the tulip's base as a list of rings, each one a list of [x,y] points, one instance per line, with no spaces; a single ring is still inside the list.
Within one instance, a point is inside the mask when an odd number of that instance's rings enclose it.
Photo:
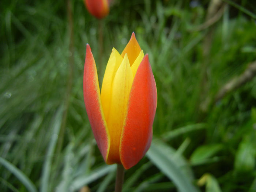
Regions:
[[[110,150],[107,163],[121,163],[119,155],[120,136],[127,113],[132,81],[132,70],[127,54],[125,54],[113,80],[110,112],[106,119],[110,133]]]

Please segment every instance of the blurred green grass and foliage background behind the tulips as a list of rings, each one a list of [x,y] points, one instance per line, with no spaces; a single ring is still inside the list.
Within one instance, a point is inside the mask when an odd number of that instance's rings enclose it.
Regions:
[[[114,191],[83,101],[89,43],[101,87],[132,32],[158,91],[153,142],[123,191],[256,191],[256,2],[0,2],[0,189]]]

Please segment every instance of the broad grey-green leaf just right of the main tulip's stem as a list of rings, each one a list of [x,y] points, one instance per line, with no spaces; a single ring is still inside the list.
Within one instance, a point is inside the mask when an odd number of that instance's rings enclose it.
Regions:
[[[147,152],[147,157],[165,174],[170,180],[174,182],[180,192],[196,192],[198,191],[192,185],[189,178],[178,167],[177,162],[168,157],[161,145],[155,140],[151,143],[151,147]]]

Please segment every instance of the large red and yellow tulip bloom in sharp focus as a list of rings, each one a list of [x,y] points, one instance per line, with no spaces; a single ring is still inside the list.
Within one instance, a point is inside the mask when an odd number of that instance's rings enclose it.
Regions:
[[[148,54],[135,34],[121,55],[112,49],[101,93],[95,60],[86,47],[83,77],[84,103],[98,148],[107,164],[136,165],[152,141],[157,88]]]

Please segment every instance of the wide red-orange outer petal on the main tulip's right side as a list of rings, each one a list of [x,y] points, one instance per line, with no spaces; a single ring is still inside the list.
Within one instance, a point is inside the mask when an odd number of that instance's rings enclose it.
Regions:
[[[127,116],[121,133],[119,150],[125,169],[136,165],[150,147],[156,108],[157,87],[146,54],[133,80]]]

